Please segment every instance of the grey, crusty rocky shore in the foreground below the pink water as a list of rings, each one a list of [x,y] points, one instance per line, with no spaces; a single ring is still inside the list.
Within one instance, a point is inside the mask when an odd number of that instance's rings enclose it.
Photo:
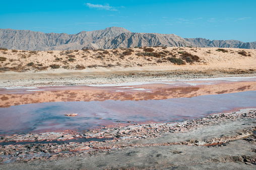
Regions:
[[[4,145],[0,146],[0,167],[211,169],[218,165],[253,169],[255,118],[256,109],[251,108],[181,122],[134,124],[83,133],[1,136]],[[92,141],[68,142],[83,138]],[[108,140],[93,141],[94,138]],[[50,142],[55,140],[63,142]],[[17,144],[8,144],[10,141]],[[19,144],[28,141],[42,143]],[[49,143],[43,143],[46,141]]]

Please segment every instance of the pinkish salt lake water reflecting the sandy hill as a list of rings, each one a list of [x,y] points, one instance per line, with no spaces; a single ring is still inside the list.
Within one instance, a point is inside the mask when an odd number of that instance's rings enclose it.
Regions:
[[[0,90],[0,99],[4,99],[0,100],[3,106],[0,108],[0,134],[83,131],[119,123],[170,122],[234,108],[256,107],[254,81],[201,82],[196,86],[179,81],[131,87],[39,88],[45,90],[42,92]],[[58,100],[61,93],[68,96]],[[35,96],[42,99],[36,100]],[[45,102],[47,100],[53,102]],[[17,101],[21,102],[17,104]],[[77,113],[78,116],[67,117],[67,113]]]

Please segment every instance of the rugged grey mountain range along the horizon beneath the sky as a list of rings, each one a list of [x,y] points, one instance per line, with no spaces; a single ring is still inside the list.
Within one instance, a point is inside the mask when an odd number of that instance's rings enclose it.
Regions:
[[[121,27],[82,31],[77,34],[42,33],[30,30],[0,29],[0,47],[19,50],[111,49],[119,47],[172,46],[255,49],[256,42],[182,38],[175,34],[132,33]]]

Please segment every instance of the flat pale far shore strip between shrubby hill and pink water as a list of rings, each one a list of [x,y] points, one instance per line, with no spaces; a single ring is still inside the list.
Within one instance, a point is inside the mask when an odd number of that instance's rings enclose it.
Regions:
[[[24,76],[24,77],[23,77]],[[129,82],[157,82],[157,81],[176,81],[202,78],[220,77],[256,77],[256,73],[250,74],[224,74],[224,73],[172,73],[172,72],[148,72],[148,73],[121,73],[121,74],[96,74],[96,75],[45,75],[25,73],[22,77],[20,73],[0,74],[0,89],[6,88],[29,88],[47,86],[96,86],[97,84],[129,83]],[[30,78],[27,78],[30,77]],[[225,79],[225,78],[224,78]]]

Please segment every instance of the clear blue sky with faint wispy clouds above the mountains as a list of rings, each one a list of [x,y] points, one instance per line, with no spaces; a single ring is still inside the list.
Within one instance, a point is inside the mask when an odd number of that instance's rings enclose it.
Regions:
[[[0,28],[44,33],[122,27],[183,38],[256,41],[256,1],[2,1]]]

